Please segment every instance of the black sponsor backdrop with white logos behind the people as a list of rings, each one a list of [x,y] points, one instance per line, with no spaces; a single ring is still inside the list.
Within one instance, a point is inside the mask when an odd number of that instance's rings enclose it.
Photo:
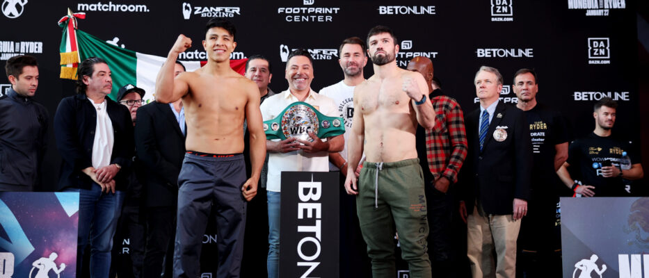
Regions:
[[[472,1],[144,1],[144,0],[0,0],[0,64],[30,54],[40,63],[36,99],[54,117],[58,102],[74,94],[73,81],[59,79],[61,28],[58,19],[86,13],[79,30],[118,47],[166,56],[177,35],[193,40],[179,59],[205,60],[201,40],[209,17],[229,17],[237,24],[233,59],[262,54],[275,75],[271,88],[287,88],[284,62],[291,49],[306,48],[314,58],[314,90],[343,78],[337,63],[339,43],[365,38],[372,26],[394,29],[400,67],[414,56],[433,60],[442,89],[465,111],[478,107],[474,74],[481,65],[504,75],[503,101],[515,103],[513,73],[538,72],[539,99],[566,115],[574,136],[593,129],[592,105],[604,96],[620,103],[614,132],[639,142],[639,92],[636,0],[472,0]],[[0,72],[4,75],[4,69]],[[372,74],[371,63],[365,76]],[[0,81],[0,93],[8,81]],[[113,84],[120,87],[124,84]],[[152,94],[152,92],[147,92]],[[50,124],[51,126],[51,124]],[[50,129],[42,190],[58,179],[60,154]],[[209,234],[209,233],[208,233]],[[209,242],[209,238],[207,236]],[[205,277],[211,273],[206,272]]]

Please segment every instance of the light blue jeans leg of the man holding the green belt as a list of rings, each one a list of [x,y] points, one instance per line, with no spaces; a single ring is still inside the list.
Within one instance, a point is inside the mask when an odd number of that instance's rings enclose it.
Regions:
[[[266,268],[269,278],[278,278],[280,268],[280,196],[281,193],[268,191],[269,203],[269,258]]]

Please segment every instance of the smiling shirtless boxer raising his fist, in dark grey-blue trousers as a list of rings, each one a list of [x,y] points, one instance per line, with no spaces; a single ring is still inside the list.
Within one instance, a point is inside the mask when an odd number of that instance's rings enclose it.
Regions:
[[[156,101],[171,103],[182,97],[187,125],[187,154],[178,177],[173,277],[200,276],[200,247],[213,202],[218,207],[216,277],[239,277],[246,223],[244,198],[249,201],[257,193],[266,135],[257,84],[230,68],[230,53],[237,47],[235,33],[231,22],[210,19],[202,41],[207,65],[174,78],[178,54],[191,47],[191,40],[179,35],[156,79]],[[248,120],[253,164],[248,180],[241,154],[243,120]]]

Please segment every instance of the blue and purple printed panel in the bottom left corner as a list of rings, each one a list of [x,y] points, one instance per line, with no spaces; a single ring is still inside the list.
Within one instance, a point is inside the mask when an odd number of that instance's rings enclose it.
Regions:
[[[0,277],[76,277],[77,211],[79,193],[0,193]]]

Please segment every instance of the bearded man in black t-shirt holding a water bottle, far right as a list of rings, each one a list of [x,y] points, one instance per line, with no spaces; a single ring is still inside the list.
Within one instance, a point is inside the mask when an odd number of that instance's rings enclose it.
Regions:
[[[556,173],[561,181],[575,192],[585,197],[623,197],[623,179],[634,181],[642,179],[644,172],[640,156],[629,141],[618,140],[612,136],[618,103],[603,97],[594,106],[595,130],[585,138],[575,140],[568,149],[568,160]],[[631,169],[622,170],[620,161],[625,154],[631,160]],[[568,168],[576,165],[582,183],[570,177]]]

